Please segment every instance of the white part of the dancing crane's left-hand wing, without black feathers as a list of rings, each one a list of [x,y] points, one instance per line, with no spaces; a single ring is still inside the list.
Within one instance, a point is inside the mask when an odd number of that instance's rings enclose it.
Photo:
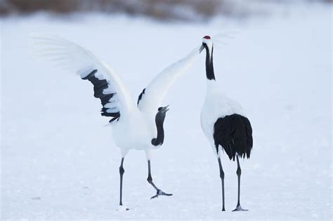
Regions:
[[[112,88],[105,89],[106,92],[111,90],[117,93],[113,100],[117,99],[116,104],[119,112],[127,114],[135,108],[131,95],[122,83],[120,76],[90,51],[58,36],[30,34],[30,41],[32,51],[39,57],[51,60],[55,65],[69,69],[72,72],[77,72],[81,77],[89,74],[93,69],[98,69],[96,77],[100,76],[112,85]],[[115,107],[112,106],[112,108]]]

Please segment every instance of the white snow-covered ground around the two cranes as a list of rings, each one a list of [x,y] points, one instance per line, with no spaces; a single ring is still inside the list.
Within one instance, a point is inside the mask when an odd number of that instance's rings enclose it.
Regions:
[[[209,24],[145,19],[34,15],[1,18],[1,220],[319,219],[332,220],[332,8],[295,8],[270,18]],[[254,130],[254,149],[236,163],[223,157],[226,212],[218,163],[200,128],[204,55],[171,89],[166,140],[152,177],[174,196],[150,200],[144,152],[124,162],[124,204],[117,212],[120,154],[89,82],[34,60],[30,32],[71,39],[121,73],[137,98],[163,67],[202,36],[240,29],[214,49],[216,79],[239,101]]]

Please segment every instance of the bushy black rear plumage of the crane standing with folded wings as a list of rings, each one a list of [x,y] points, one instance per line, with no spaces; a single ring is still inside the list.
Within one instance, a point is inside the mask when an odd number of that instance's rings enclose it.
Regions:
[[[252,126],[249,119],[240,114],[217,119],[214,123],[214,144],[216,152],[218,152],[218,145],[221,145],[230,160],[235,161],[236,153],[242,158],[245,156],[249,158],[253,146]]]

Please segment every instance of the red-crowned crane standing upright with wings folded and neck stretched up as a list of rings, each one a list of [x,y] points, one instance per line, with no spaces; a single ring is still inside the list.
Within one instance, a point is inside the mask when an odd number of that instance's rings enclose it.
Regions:
[[[224,172],[221,164],[221,152],[224,151],[230,160],[237,160],[238,177],[237,206],[233,211],[244,211],[240,206],[240,158],[249,158],[253,146],[252,126],[244,116],[240,105],[226,97],[216,84],[213,67],[213,41],[204,36],[202,46],[206,49],[207,93],[201,112],[201,126],[218,159],[222,184],[222,211],[224,207]]]

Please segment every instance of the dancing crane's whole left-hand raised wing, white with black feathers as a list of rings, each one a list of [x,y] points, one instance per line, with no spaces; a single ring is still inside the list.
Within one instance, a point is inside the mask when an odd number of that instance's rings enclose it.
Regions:
[[[30,40],[32,50],[42,58],[77,72],[81,79],[93,83],[93,95],[99,98],[103,105],[101,114],[111,116],[110,122],[134,108],[129,91],[120,77],[90,51],[57,36],[31,34]]]

